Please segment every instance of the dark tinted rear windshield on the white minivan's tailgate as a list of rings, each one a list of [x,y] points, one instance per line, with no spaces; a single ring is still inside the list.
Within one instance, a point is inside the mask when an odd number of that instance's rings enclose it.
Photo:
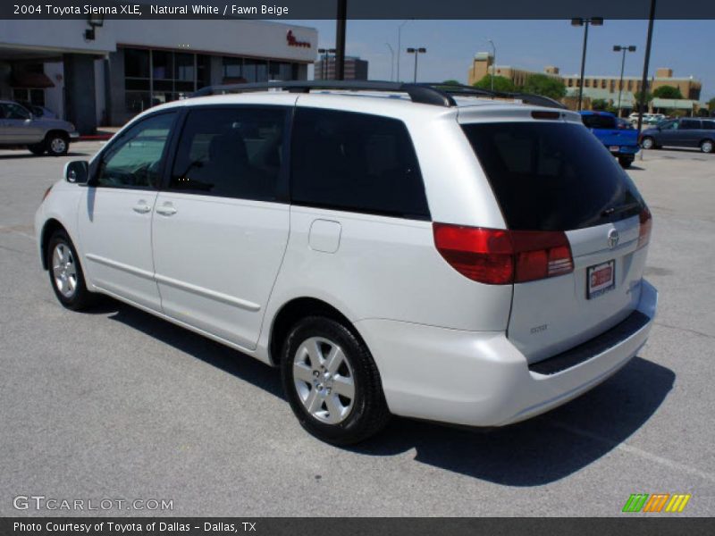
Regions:
[[[601,142],[582,125],[462,125],[509,229],[571,230],[638,214],[643,199]]]

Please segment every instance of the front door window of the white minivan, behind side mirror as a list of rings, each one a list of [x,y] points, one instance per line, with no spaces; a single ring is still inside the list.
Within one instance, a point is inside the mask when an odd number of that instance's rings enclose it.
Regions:
[[[158,188],[166,140],[176,113],[147,117],[130,128],[102,155],[97,186]]]

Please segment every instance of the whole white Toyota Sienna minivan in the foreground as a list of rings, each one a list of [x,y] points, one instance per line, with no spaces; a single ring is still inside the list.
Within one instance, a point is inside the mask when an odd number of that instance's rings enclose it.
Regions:
[[[63,306],[107,294],[278,366],[340,444],[515,423],[644,345],[651,214],[576,113],[284,86],[157,106],[67,164],[36,217]]]

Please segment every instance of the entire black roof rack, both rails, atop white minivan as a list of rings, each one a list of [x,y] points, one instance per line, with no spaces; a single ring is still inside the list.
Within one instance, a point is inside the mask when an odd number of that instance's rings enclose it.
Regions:
[[[549,108],[567,109],[548,96],[530,93],[508,93],[475,88],[463,84],[445,84],[444,82],[403,83],[383,80],[290,80],[251,82],[243,84],[225,84],[201,88],[191,96],[221,95],[225,93],[248,93],[265,91],[266,89],[285,90],[290,93],[310,93],[311,90],[339,89],[343,91],[386,91],[407,93],[413,103],[437,106],[456,106],[452,96],[490,96],[492,98],[513,98],[528,105],[546,106]]]

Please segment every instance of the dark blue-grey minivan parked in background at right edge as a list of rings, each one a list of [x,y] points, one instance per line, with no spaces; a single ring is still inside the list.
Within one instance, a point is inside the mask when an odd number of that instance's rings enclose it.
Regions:
[[[712,153],[715,148],[715,120],[684,117],[662,121],[652,129],[641,133],[641,147],[700,147],[703,153]]]

